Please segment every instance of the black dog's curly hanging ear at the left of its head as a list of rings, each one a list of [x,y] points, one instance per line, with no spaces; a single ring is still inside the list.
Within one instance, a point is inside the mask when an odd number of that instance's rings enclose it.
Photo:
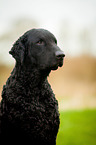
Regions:
[[[22,64],[24,61],[24,55],[25,55],[25,39],[23,39],[23,36],[20,37],[13,45],[12,49],[9,51],[9,54],[11,54],[17,63]]]

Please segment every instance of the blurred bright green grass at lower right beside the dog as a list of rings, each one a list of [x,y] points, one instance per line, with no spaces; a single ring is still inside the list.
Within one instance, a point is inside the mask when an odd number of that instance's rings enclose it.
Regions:
[[[57,145],[96,145],[96,110],[60,113]]]

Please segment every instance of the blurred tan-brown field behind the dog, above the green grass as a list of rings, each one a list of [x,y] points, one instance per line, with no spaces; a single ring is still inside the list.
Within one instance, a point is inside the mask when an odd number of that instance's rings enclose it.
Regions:
[[[0,92],[13,67],[0,66]],[[60,110],[96,108],[96,57],[65,57],[64,66],[48,79]]]

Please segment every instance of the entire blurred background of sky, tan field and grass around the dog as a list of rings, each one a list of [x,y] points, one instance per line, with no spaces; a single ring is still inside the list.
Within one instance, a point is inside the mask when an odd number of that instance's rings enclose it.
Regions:
[[[0,0],[0,96],[15,64],[8,52],[32,28],[52,32],[66,54],[48,77],[61,114],[57,145],[96,145],[96,0]]]

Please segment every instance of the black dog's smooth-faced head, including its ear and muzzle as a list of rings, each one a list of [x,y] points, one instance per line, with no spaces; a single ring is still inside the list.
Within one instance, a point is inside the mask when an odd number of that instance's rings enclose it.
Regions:
[[[63,65],[65,54],[55,36],[44,29],[32,29],[21,36],[9,52],[19,65],[40,70],[56,70]]]

